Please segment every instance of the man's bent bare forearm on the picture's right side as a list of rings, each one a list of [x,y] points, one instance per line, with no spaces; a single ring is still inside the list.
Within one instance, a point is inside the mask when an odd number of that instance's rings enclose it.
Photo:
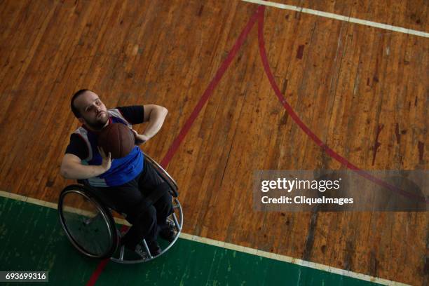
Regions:
[[[156,133],[161,129],[165,116],[168,114],[168,110],[165,107],[161,107],[155,104],[147,104],[143,106],[143,122],[148,122],[148,125],[144,132],[139,135],[134,131],[136,144],[142,144],[147,140],[154,137]]]

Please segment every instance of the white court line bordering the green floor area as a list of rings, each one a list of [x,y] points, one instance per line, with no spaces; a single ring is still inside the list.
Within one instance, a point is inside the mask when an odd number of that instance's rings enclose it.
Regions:
[[[49,203],[49,202],[45,202],[43,200],[37,200],[35,198],[27,198],[26,196],[20,196],[20,195],[17,195],[15,193],[8,193],[6,191],[0,191],[0,196],[5,197],[5,198],[12,198],[13,200],[21,200],[23,202],[32,203],[35,205],[41,205],[43,207],[50,207],[50,208],[53,208],[55,210],[57,209],[57,204],[55,204],[55,203]],[[79,211],[79,212],[81,212],[81,211]],[[118,224],[126,223],[128,226],[130,226],[130,224],[128,224],[128,222],[126,222],[124,219],[116,219],[115,218],[115,221]],[[356,278],[356,279],[365,280],[365,281],[369,281],[369,282],[375,282],[375,283],[379,283],[381,285],[393,285],[393,286],[406,286],[407,285],[407,284],[404,284],[401,282],[377,278],[377,277],[362,274],[362,273],[347,271],[347,270],[344,270],[341,268],[334,268],[334,267],[327,266],[324,264],[318,264],[318,263],[314,263],[311,261],[305,261],[305,260],[301,260],[301,259],[297,259],[297,258],[293,258],[293,257],[287,257],[285,255],[275,254],[275,253],[266,252],[266,251],[262,251],[262,250],[256,250],[254,248],[240,246],[240,245],[234,245],[232,243],[225,243],[223,241],[213,240],[210,238],[202,238],[200,236],[193,236],[189,233],[181,233],[180,238],[183,238],[186,240],[196,241],[198,243],[204,243],[207,245],[214,245],[217,247],[223,247],[223,248],[238,251],[238,252],[245,252],[247,254],[254,254],[254,255],[257,255],[259,257],[266,257],[268,259],[275,259],[278,261],[284,261],[284,262],[291,263],[291,264],[297,264],[299,266],[305,266],[305,267],[309,267],[309,268],[313,268],[313,269],[317,269],[317,270],[321,270],[321,271],[326,271],[329,273],[335,273],[335,274],[347,276],[350,278]]]

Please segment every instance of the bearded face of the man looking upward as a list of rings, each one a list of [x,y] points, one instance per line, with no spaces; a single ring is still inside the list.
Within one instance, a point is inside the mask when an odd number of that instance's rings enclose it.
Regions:
[[[86,91],[74,100],[74,106],[81,113],[79,121],[90,128],[100,130],[109,121],[107,109],[97,94]]]

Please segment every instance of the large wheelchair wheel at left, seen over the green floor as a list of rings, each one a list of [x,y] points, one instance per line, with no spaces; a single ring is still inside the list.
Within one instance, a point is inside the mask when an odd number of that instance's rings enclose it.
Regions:
[[[71,185],[62,190],[58,215],[64,232],[79,252],[95,258],[114,254],[119,243],[114,219],[85,186]]]

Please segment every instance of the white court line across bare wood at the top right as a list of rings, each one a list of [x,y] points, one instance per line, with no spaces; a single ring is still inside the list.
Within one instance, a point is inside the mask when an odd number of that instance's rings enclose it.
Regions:
[[[404,27],[397,27],[397,26],[382,24],[382,23],[378,23],[378,22],[372,22],[372,21],[368,21],[368,20],[362,20],[362,19],[358,19],[358,18],[338,15],[338,14],[334,14],[334,13],[327,13],[327,12],[323,12],[323,11],[308,9],[308,8],[304,8],[304,7],[280,4],[280,3],[264,1],[264,0],[241,0],[241,1],[249,2],[249,3],[253,3],[253,4],[264,5],[264,6],[271,6],[271,7],[285,9],[285,10],[297,11],[297,12],[307,13],[307,14],[311,14],[311,15],[317,15],[320,17],[331,18],[331,19],[341,20],[341,21],[345,21],[345,22],[350,22],[350,23],[355,23],[355,24],[360,24],[360,25],[366,25],[366,26],[376,27],[376,28],[380,28],[380,29],[387,29],[387,30],[394,31],[394,32],[400,32],[400,33],[404,33],[404,34],[411,34],[414,36],[423,36],[425,38],[429,38],[429,33],[417,31],[414,29],[407,29]]]

